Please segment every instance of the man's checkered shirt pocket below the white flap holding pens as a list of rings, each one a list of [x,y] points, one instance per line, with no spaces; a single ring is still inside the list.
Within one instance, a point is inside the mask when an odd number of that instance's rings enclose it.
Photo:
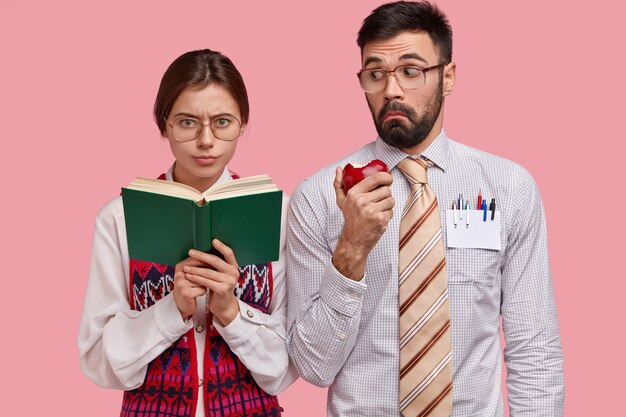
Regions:
[[[480,248],[446,249],[446,272],[450,285],[499,285],[501,264],[502,251]]]

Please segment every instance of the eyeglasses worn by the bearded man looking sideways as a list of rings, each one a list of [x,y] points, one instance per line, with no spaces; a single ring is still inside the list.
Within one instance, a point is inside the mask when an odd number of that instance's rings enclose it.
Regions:
[[[356,75],[359,77],[361,88],[366,93],[380,93],[387,87],[387,80],[393,74],[396,82],[403,90],[416,90],[426,84],[426,73],[446,64],[437,64],[432,67],[421,68],[416,65],[399,65],[392,70],[384,68],[362,69]]]

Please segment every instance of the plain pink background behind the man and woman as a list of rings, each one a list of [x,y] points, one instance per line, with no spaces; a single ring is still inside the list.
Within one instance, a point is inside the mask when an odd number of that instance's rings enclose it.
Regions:
[[[252,113],[231,163],[240,174],[267,172],[291,192],[374,137],[355,34],[380,2],[344,3],[2,2],[2,415],[119,412],[120,393],[78,368],[94,217],[171,163],[151,110],[178,55],[210,47],[241,70]],[[614,414],[626,371],[624,11],[575,3],[439,1],[458,65],[445,127],[537,180],[566,415],[600,416]],[[324,415],[325,391],[303,381],[280,398],[286,416]]]

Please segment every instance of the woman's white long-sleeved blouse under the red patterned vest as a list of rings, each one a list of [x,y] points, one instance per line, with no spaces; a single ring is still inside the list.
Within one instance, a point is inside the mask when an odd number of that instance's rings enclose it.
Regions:
[[[166,179],[172,181],[173,166]],[[225,169],[216,184],[230,181]],[[272,262],[274,291],[269,314],[239,301],[240,312],[228,326],[214,326],[259,386],[274,395],[297,378],[285,345],[287,289],[285,282],[285,218],[283,198],[280,258]],[[235,256],[237,254],[235,253]],[[170,293],[151,307],[131,310],[129,256],[122,198],[107,203],[96,217],[89,283],[78,334],[83,373],[104,388],[132,390],[141,386],[148,364],[189,329],[195,328],[198,378],[204,372],[207,296],[197,298],[193,320],[183,321]],[[203,390],[198,390],[196,416],[204,416]]]

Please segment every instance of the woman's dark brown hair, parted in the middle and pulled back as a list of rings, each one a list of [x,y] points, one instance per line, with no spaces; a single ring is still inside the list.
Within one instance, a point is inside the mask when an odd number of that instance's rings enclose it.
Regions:
[[[167,129],[165,119],[180,93],[188,87],[202,90],[209,84],[224,87],[239,106],[241,124],[248,123],[250,105],[241,74],[227,56],[210,49],[202,49],[176,58],[161,78],[159,92],[154,101],[154,121],[162,135],[165,135]]]

